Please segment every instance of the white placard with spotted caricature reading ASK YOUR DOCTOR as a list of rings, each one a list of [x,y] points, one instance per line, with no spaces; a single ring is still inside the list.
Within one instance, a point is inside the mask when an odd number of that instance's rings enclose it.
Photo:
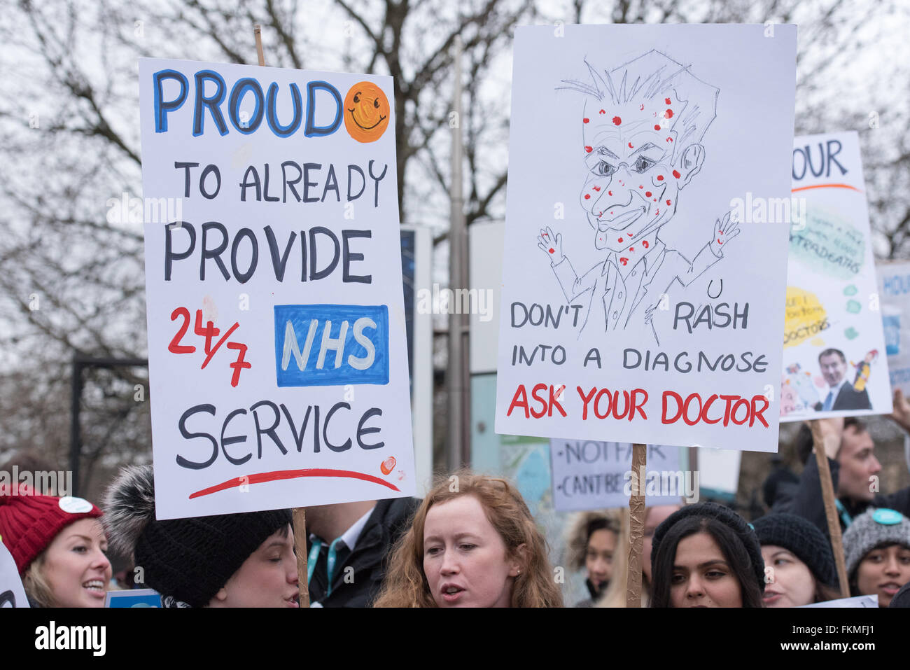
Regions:
[[[776,451],[796,35],[772,32],[516,31],[496,431]]]

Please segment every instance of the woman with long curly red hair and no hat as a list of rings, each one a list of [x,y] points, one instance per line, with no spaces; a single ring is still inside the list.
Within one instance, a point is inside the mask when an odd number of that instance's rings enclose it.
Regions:
[[[420,503],[375,607],[561,607],[546,541],[511,483],[457,472]]]

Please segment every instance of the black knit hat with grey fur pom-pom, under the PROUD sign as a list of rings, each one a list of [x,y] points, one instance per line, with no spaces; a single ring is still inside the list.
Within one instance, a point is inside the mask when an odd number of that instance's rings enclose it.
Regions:
[[[103,502],[111,547],[132,554],[143,583],[192,607],[204,607],[269,535],[291,523],[289,510],[155,518],[152,466],[117,476]]]

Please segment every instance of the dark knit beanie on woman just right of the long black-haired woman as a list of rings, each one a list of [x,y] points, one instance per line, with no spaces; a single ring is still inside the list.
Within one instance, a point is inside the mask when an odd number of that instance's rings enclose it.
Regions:
[[[752,523],[758,541],[784,547],[809,568],[815,579],[828,586],[837,584],[837,568],[831,544],[814,523],[795,514],[768,514]]]

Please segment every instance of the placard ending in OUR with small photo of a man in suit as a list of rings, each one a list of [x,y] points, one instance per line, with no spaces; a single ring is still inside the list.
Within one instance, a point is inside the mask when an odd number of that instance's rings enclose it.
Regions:
[[[796,137],[781,421],[891,411],[855,132]]]

